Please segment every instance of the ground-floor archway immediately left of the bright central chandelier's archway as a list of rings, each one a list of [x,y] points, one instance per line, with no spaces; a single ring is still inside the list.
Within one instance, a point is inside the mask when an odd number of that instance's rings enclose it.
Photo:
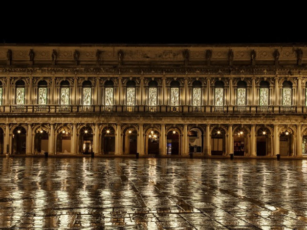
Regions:
[[[125,154],[137,153],[137,137],[138,133],[134,127],[128,127],[123,134],[123,152]]]

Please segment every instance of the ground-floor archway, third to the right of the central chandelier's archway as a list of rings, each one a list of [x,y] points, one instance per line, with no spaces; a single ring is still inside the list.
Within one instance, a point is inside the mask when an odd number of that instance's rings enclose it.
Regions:
[[[226,152],[226,132],[215,127],[211,132],[211,155],[224,155]]]

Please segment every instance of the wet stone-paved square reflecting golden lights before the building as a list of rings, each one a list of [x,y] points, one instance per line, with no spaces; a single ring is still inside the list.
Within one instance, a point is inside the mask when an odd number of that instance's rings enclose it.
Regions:
[[[305,229],[306,160],[0,158],[0,227]]]

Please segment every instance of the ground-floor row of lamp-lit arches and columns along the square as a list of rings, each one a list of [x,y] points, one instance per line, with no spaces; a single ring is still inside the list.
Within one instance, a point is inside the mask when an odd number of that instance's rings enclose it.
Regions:
[[[301,156],[306,125],[2,124],[4,154]]]

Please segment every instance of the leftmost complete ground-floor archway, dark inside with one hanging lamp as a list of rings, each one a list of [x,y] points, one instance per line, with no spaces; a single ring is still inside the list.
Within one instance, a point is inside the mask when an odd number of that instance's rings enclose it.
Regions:
[[[13,154],[26,154],[26,129],[24,127],[16,127],[13,130],[13,143],[12,153]]]

